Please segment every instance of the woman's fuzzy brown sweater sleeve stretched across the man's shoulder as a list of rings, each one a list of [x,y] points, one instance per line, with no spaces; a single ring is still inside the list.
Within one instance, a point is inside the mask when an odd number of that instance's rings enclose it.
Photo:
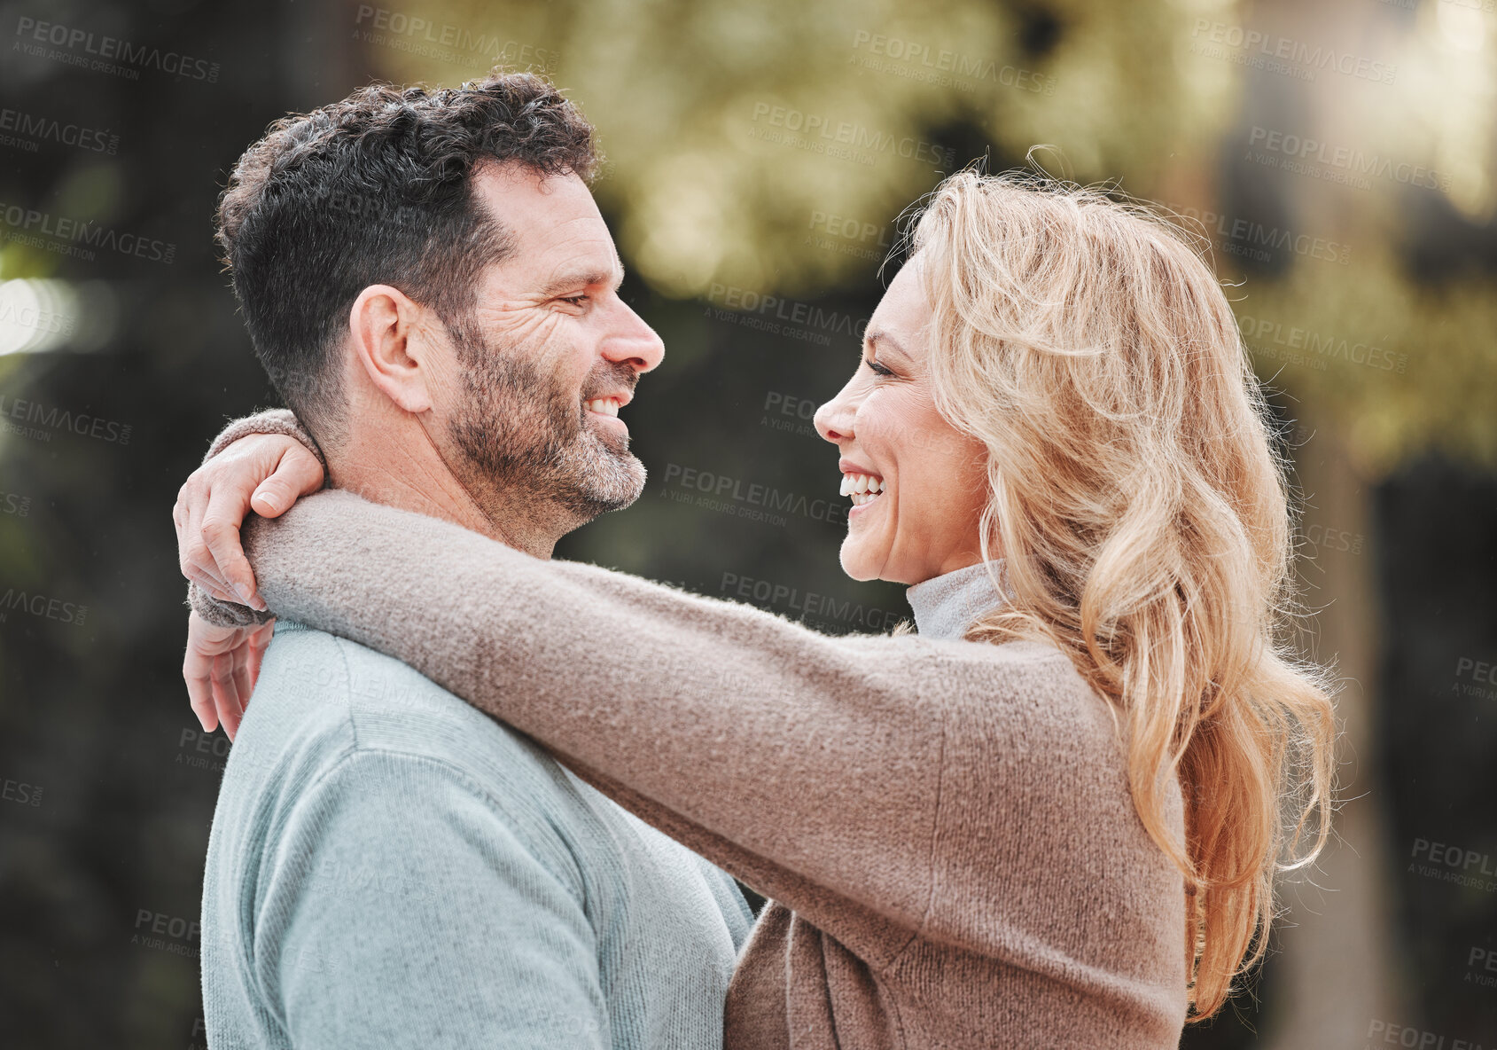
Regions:
[[[813,921],[924,920],[939,644],[819,635],[337,490],[244,539],[275,616],[400,658]]]

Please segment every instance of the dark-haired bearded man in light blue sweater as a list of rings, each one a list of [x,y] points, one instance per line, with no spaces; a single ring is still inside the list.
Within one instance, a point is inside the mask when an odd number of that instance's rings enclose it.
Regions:
[[[591,129],[528,75],[367,87],[244,154],[219,238],[329,484],[537,557],[639,496],[617,412],[663,350],[618,297],[593,166]],[[231,455],[322,475],[277,437]],[[180,500],[180,536],[228,539],[226,499],[202,521]],[[251,592],[195,560],[211,593]],[[246,711],[243,637],[190,629],[195,705],[211,728],[217,694],[235,738],[204,878],[210,1046],[720,1044],[751,923],[725,873],[397,661],[278,623]]]

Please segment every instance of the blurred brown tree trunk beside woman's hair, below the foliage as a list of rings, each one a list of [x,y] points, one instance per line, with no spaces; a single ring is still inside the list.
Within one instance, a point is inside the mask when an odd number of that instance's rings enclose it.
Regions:
[[[1373,1019],[1409,1017],[1394,963],[1388,806],[1377,791],[1376,538],[1370,484],[1347,455],[1344,436],[1314,430],[1313,409],[1304,407],[1313,436],[1296,464],[1307,502],[1302,530],[1317,541],[1302,550],[1304,602],[1316,613],[1304,644],[1337,668],[1341,804],[1316,869],[1283,887],[1287,914],[1277,927],[1265,1035],[1281,1050],[1359,1050]]]

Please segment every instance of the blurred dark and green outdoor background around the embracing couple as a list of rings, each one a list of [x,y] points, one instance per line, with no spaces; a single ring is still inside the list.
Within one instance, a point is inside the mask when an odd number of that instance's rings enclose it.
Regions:
[[[214,262],[228,169],[287,111],[496,63],[597,126],[668,349],[626,410],[645,496],[558,554],[826,631],[906,616],[841,577],[810,427],[900,211],[1045,144],[1199,222],[1307,494],[1346,801],[1186,1046],[1497,1044],[1494,0],[388,3],[0,3],[0,1044],[204,1043],[228,741],[180,679],[171,505],[275,403]]]

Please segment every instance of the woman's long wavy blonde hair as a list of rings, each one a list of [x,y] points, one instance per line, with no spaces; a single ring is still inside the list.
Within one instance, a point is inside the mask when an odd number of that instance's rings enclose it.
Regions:
[[[984,556],[1012,593],[967,637],[1049,641],[1111,701],[1210,1017],[1265,951],[1275,870],[1325,843],[1335,738],[1326,673],[1290,655],[1286,472],[1232,309],[1181,229],[1028,174],[952,175],[913,250],[936,406],[987,446]]]

